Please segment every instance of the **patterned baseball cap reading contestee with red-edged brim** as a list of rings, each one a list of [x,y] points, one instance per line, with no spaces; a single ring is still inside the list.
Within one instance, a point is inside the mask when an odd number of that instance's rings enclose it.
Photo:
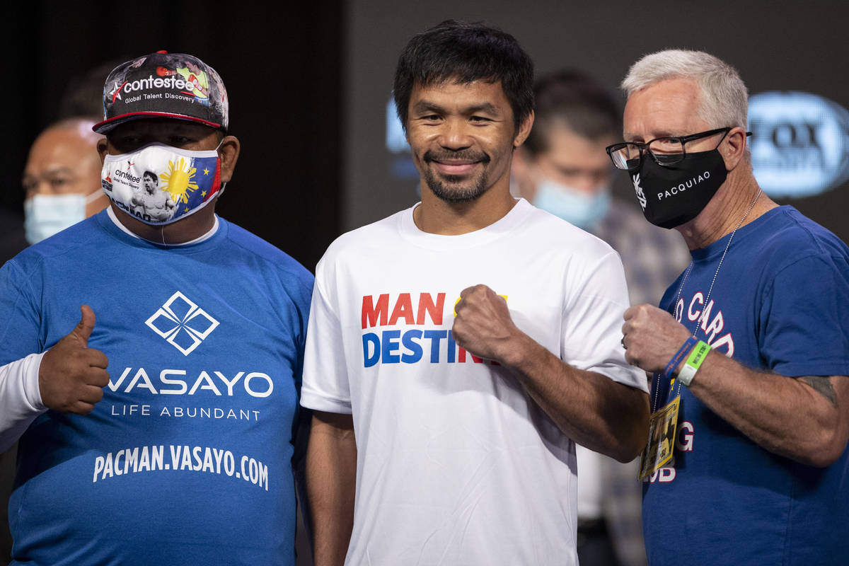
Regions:
[[[139,118],[190,120],[227,132],[228,99],[215,69],[192,55],[157,51],[120,64],[106,77],[104,120],[108,133]]]

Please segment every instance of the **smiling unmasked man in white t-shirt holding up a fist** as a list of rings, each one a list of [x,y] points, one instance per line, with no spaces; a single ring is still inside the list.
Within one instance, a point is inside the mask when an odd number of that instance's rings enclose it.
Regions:
[[[443,22],[399,59],[421,203],[338,238],[316,272],[317,566],[576,564],[575,443],[622,462],[644,444],[619,256],[509,193],[532,81],[480,24]]]

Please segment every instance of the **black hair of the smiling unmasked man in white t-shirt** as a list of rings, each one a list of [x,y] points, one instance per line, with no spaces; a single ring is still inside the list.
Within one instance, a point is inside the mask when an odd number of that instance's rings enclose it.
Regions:
[[[514,36],[482,22],[445,20],[408,42],[398,58],[392,87],[405,130],[413,87],[445,81],[500,81],[516,129],[533,110],[533,61]]]

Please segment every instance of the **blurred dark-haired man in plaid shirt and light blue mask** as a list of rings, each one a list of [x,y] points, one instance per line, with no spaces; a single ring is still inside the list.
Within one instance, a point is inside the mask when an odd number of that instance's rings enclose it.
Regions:
[[[533,129],[514,154],[518,193],[610,244],[625,267],[631,304],[656,305],[689,254],[678,234],[652,226],[632,203],[611,197],[616,169],[604,148],[620,136],[619,104],[577,70],[539,79],[534,100]],[[636,463],[621,464],[583,446],[576,453],[581,563],[644,564]]]

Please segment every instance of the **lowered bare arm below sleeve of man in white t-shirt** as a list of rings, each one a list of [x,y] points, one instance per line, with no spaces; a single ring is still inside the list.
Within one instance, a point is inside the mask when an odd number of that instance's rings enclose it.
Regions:
[[[306,449],[306,493],[316,566],[345,563],[356,484],[357,443],[351,416],[315,412]]]

